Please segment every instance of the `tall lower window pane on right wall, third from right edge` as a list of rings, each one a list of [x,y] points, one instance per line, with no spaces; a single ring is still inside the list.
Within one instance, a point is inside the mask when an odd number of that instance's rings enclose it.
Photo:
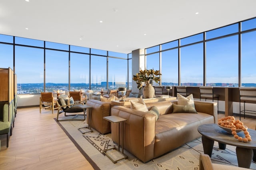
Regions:
[[[180,50],[180,81],[182,86],[200,86],[204,82],[203,43]]]

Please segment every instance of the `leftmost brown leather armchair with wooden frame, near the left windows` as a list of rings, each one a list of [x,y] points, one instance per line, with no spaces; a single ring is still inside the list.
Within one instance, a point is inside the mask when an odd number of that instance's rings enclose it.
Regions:
[[[54,101],[52,92],[41,92],[40,105],[39,105],[40,113],[41,113],[41,109],[50,109],[52,110],[52,114],[53,114],[55,104],[56,102]]]

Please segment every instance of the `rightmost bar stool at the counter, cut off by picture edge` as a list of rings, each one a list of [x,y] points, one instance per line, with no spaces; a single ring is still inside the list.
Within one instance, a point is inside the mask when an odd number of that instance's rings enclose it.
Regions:
[[[256,88],[240,87],[239,94],[240,94],[240,98],[239,98],[240,120],[241,120],[241,112],[244,112],[244,119],[245,119],[245,113],[256,114],[256,111],[245,109],[246,102],[247,103],[256,103]],[[241,102],[244,102],[244,110],[242,110],[242,111],[241,111]]]

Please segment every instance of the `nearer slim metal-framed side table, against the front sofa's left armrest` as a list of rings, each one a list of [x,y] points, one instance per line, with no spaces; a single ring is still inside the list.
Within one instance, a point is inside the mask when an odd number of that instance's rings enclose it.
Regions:
[[[108,150],[112,150],[112,149],[116,149],[116,147],[110,148],[110,149],[105,149],[103,150],[104,154],[106,156],[108,156],[108,158],[110,158],[110,160],[112,160],[112,162],[115,164],[116,162],[120,161],[120,160],[124,160],[127,159],[128,156],[126,154],[124,154],[124,121],[127,121],[126,119],[122,118],[122,117],[118,117],[118,116],[106,116],[103,117],[103,119],[110,121],[111,123],[118,123],[118,151],[120,152],[120,123],[122,124],[122,158],[114,160],[113,158],[111,158],[111,156],[108,154]]]

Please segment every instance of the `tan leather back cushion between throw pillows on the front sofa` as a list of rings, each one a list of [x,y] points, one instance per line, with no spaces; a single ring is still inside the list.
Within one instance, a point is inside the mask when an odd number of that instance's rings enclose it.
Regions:
[[[159,110],[159,115],[169,114],[173,111],[172,102],[170,101],[146,103],[146,106],[149,110],[151,109],[151,107],[156,106]]]

